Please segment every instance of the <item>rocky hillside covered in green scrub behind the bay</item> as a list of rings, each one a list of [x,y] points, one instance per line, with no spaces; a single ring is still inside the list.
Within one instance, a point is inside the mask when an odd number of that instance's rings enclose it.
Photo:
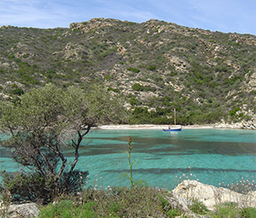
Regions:
[[[0,96],[102,83],[128,123],[255,122],[256,37],[160,20],[92,19],[70,28],[0,28]]]

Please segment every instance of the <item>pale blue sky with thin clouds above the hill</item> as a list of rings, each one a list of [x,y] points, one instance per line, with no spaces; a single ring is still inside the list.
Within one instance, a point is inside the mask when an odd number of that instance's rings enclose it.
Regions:
[[[256,0],[0,0],[0,26],[68,27],[99,17],[256,35]]]

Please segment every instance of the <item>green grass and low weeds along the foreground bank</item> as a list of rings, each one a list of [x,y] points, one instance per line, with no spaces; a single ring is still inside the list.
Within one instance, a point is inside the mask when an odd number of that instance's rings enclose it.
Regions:
[[[54,203],[41,207],[39,217],[186,217],[165,196],[172,197],[170,192],[149,186],[90,188],[76,196],[55,198]],[[215,211],[209,211],[194,200],[189,209],[212,218],[256,217],[255,208],[240,208],[235,203],[219,204]]]

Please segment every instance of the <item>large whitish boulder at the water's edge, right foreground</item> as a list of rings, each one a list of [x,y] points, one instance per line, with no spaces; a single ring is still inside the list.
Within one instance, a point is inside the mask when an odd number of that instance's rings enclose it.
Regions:
[[[201,202],[209,210],[214,210],[218,204],[228,202],[236,203],[239,207],[256,207],[256,192],[242,194],[227,188],[206,185],[199,181],[182,181],[172,190],[172,196],[176,199],[178,208],[183,211],[189,211],[188,206],[192,204],[193,200]]]

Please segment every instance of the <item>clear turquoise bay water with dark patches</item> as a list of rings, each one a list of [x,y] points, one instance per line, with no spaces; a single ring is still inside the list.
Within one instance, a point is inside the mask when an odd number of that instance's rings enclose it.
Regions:
[[[89,183],[129,186],[127,141],[132,138],[131,159],[134,180],[149,186],[172,189],[179,177],[190,175],[218,186],[241,177],[256,176],[256,131],[241,129],[183,129],[168,133],[161,129],[92,130],[80,149],[77,169],[87,170]],[[15,171],[19,166],[9,153],[0,150],[1,169]],[[72,159],[72,154],[69,155]],[[189,170],[189,167],[191,170]],[[97,177],[96,177],[97,175]],[[102,180],[100,177],[102,176]],[[190,176],[189,176],[190,177]]]

